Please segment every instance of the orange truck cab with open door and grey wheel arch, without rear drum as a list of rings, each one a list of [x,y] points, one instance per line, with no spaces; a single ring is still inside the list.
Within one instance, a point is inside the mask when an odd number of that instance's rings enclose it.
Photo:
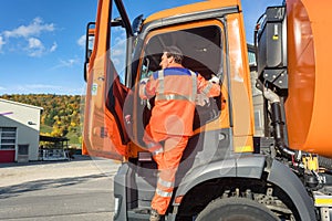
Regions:
[[[86,30],[83,152],[122,162],[114,220],[149,217],[158,171],[143,135],[154,98],[141,99],[138,90],[169,45],[183,51],[185,67],[218,76],[221,95],[196,106],[166,219],[317,219],[310,191],[271,150],[272,133],[255,137],[243,30],[239,0],[197,2],[133,22],[121,0],[98,1]]]

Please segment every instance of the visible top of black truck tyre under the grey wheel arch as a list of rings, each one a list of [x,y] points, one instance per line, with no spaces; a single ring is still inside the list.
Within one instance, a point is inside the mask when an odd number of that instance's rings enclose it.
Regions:
[[[196,221],[276,221],[278,217],[263,204],[246,198],[217,199],[210,202]]]

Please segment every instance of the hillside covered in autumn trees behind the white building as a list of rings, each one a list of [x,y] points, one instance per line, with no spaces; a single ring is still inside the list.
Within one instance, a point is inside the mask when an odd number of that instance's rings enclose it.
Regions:
[[[40,133],[46,136],[68,137],[73,147],[81,147],[81,96],[79,95],[1,95],[0,98],[43,107]]]

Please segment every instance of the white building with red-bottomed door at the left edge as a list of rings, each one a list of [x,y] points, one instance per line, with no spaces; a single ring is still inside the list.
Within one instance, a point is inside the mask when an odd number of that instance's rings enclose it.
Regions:
[[[0,98],[0,162],[38,160],[42,110]]]

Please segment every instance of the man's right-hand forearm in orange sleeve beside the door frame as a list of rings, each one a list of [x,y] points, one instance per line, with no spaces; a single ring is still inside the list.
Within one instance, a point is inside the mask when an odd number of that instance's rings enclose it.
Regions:
[[[198,93],[204,94],[208,97],[219,96],[220,85],[219,85],[219,81],[216,80],[214,82],[214,77],[212,77],[211,81],[206,81],[200,74],[198,74],[197,76]]]

